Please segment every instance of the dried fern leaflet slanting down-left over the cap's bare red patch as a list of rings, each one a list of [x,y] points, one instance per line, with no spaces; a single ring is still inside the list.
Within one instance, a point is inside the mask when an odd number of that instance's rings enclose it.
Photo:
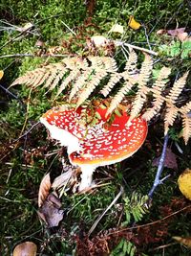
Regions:
[[[112,102],[110,104],[110,107],[108,108],[106,115],[112,113],[115,110],[115,108],[117,108],[117,105],[119,105],[122,102],[123,98],[125,97],[125,94],[131,90],[133,85],[134,84],[130,81],[124,82],[122,88],[117,92],[115,97],[112,99]]]

